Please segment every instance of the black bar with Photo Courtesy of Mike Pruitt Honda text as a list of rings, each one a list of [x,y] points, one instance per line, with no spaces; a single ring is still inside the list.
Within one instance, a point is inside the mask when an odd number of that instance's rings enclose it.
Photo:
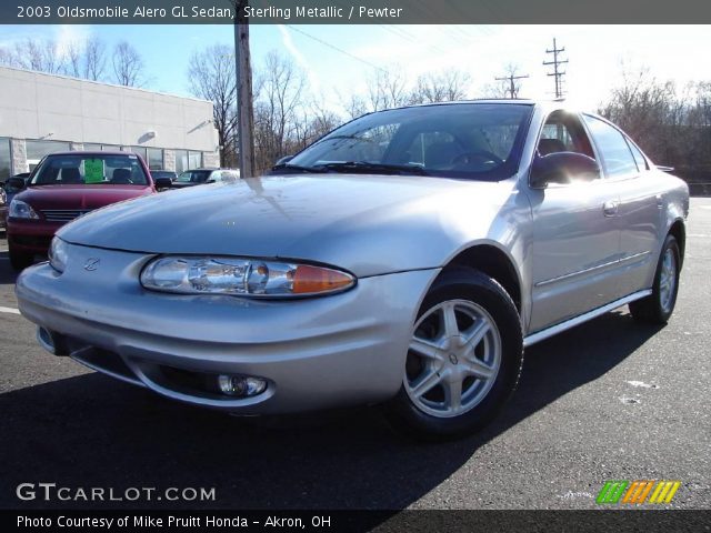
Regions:
[[[0,511],[2,531],[708,532],[711,511]]]

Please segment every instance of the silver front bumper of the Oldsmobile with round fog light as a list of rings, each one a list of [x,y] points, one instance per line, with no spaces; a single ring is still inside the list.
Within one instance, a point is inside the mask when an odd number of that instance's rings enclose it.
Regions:
[[[400,388],[412,324],[438,270],[359,280],[324,298],[259,301],[146,291],[152,255],[71,245],[60,275],[47,263],[17,281],[20,311],[79,362],[198,405],[241,414],[375,403]],[[88,259],[99,268],[86,271]],[[173,369],[264,378],[234,399],[187,388]]]

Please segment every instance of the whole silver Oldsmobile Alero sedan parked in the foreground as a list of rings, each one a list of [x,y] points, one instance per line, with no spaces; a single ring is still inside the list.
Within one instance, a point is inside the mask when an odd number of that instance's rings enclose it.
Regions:
[[[560,103],[368,114],[263,178],[132,200],[62,228],[18,279],[58,355],[238,414],[382,403],[475,431],[523,346],[629,304],[665,322],[689,191]]]

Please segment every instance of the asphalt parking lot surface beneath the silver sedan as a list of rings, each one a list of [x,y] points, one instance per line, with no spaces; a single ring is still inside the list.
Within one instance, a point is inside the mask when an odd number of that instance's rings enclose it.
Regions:
[[[484,432],[413,443],[377,409],[259,422],[180,405],[41,350],[14,311],[0,239],[0,506],[20,483],[214,487],[221,509],[590,509],[607,480],[679,480],[673,507],[711,506],[711,199],[692,199],[677,311],[627,309],[527,351]],[[328,376],[324,376],[328,379]]]

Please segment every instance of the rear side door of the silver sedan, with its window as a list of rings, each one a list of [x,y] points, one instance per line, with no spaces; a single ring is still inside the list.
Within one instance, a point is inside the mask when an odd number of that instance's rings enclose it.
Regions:
[[[584,121],[598,148],[605,174],[620,198],[620,298],[649,289],[663,231],[663,195],[647,158],[617,127],[593,115]]]

